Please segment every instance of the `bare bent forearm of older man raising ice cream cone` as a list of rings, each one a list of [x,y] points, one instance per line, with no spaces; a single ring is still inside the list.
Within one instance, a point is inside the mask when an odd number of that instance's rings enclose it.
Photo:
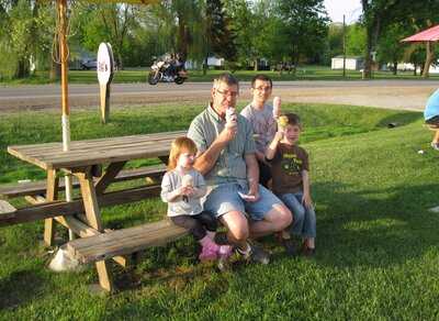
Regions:
[[[206,175],[215,166],[221,152],[235,136],[236,128],[225,128],[206,151],[196,155],[193,167],[202,175]]]

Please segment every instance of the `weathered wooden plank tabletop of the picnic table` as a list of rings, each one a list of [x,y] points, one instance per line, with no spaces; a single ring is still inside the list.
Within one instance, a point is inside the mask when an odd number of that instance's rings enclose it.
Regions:
[[[72,141],[70,150],[63,151],[63,144],[42,143],[13,145],[8,152],[43,169],[75,168],[104,163],[125,162],[137,158],[167,156],[176,137],[185,131]]]

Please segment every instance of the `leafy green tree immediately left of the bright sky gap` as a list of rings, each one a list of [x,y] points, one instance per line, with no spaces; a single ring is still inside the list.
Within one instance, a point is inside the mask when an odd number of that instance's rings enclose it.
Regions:
[[[317,60],[324,52],[329,19],[323,0],[278,0],[278,10],[295,74],[302,57]]]

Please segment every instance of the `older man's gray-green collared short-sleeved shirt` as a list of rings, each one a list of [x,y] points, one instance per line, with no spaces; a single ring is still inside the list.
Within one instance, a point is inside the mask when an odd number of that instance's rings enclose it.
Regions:
[[[256,152],[251,124],[240,114],[237,118],[238,132],[221,152],[215,166],[204,176],[209,186],[236,182],[247,179],[246,154]],[[204,153],[224,130],[223,120],[211,106],[192,121],[188,137],[195,142],[199,152]]]

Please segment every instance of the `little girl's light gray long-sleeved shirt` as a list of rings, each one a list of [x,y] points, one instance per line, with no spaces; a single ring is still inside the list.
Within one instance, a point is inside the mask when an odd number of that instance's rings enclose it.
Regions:
[[[205,182],[203,176],[195,169],[191,169],[188,174],[192,177],[193,187],[201,190],[200,195],[205,195]],[[167,171],[161,180],[161,200],[168,203],[168,217],[177,215],[196,215],[203,211],[200,197],[188,197],[184,201],[183,197],[178,197],[175,201],[169,202],[170,192],[181,187],[183,175],[177,169]]]

